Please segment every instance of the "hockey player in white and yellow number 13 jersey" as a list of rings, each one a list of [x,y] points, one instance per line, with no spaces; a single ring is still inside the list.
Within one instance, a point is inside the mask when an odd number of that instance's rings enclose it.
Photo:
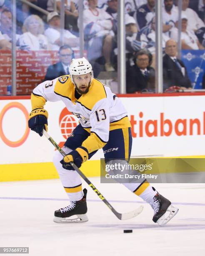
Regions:
[[[48,113],[44,109],[45,102],[59,100],[79,118],[80,124],[67,138],[63,147],[67,155],[62,159],[57,151],[53,158],[70,200],[70,205],[54,213],[54,221],[59,223],[88,220],[87,190],[82,191],[80,175],[69,163],[74,162],[80,168],[98,149],[103,148],[107,164],[110,159],[124,159],[121,161],[127,164],[132,147],[131,125],[120,99],[110,88],[93,78],[92,66],[85,58],[72,59],[69,71],[70,75],[42,82],[33,90],[32,111],[28,121],[29,128],[42,136],[43,129],[47,130]],[[110,148],[118,150],[108,151]],[[153,207],[155,223],[165,224],[178,212],[178,208],[173,207],[146,179],[124,185]],[[168,218],[165,218],[165,213],[169,213]],[[73,215],[77,215],[77,218],[68,219]]]

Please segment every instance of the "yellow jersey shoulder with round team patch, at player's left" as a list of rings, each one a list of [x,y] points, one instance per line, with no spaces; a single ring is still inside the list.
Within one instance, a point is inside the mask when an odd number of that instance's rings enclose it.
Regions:
[[[70,98],[69,96],[72,90],[74,90],[74,84],[69,75],[61,76],[56,79],[54,92],[57,95]]]

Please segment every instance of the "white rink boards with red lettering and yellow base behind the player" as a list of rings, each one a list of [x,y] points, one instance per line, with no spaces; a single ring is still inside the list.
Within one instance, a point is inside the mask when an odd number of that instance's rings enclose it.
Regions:
[[[129,96],[129,97],[128,97]],[[204,156],[205,95],[138,95],[121,97],[132,124],[132,156]],[[149,96],[149,97],[148,97]],[[27,126],[30,100],[0,98],[0,181],[53,179],[54,148]],[[63,145],[77,118],[62,102],[47,102],[48,133]],[[88,177],[100,175],[99,150],[82,166]]]

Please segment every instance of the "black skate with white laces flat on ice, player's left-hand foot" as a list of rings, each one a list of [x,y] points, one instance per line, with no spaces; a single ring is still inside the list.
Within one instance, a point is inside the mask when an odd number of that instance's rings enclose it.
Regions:
[[[70,205],[64,208],[60,208],[54,213],[54,222],[57,223],[79,223],[86,222],[88,220],[87,215],[87,203],[86,203],[86,195],[87,189],[83,189],[83,197],[79,201],[71,201]],[[73,215],[77,215],[77,218],[68,219]]]

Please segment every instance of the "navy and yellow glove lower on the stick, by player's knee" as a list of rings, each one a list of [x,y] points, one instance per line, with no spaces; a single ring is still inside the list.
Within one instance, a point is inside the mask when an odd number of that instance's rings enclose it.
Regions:
[[[64,156],[64,158],[60,161],[60,163],[62,164],[62,167],[64,169],[74,170],[70,165],[70,162],[73,162],[78,168],[80,168],[81,164],[87,161],[87,159],[88,159],[87,148],[79,147],[71,151],[66,156]]]

